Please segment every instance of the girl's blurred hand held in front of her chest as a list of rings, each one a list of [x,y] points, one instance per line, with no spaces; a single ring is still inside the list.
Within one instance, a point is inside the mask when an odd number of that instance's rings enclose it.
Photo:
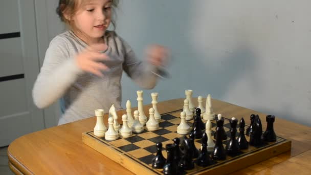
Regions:
[[[104,53],[100,53],[100,51],[104,51],[106,49],[107,46],[104,44],[91,45],[87,47],[76,56],[76,63],[78,67],[83,71],[103,77],[104,75],[101,73],[101,70],[107,70],[108,67],[99,61],[107,60],[108,56]]]

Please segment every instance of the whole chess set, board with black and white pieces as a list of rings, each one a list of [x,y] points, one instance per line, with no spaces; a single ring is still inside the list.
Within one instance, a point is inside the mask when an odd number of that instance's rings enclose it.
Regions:
[[[243,118],[238,123],[234,117],[216,115],[210,95],[205,107],[201,96],[194,107],[192,90],[185,94],[182,109],[160,114],[158,93],[151,93],[148,119],[143,111],[143,91],[137,91],[135,119],[129,101],[122,127],[114,105],[108,112],[108,129],[104,111],[96,110],[94,130],[82,133],[82,141],[135,174],[230,173],[291,150],[291,141],[275,134],[274,116],[266,116],[263,132],[258,115],[250,116],[250,125]]]

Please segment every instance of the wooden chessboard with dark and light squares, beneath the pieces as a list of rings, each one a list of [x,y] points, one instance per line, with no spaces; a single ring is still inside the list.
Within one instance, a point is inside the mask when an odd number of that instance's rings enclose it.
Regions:
[[[180,124],[180,114],[183,110],[172,111],[161,114],[159,129],[152,132],[144,126],[144,131],[139,134],[132,134],[128,138],[119,138],[114,141],[107,141],[104,137],[99,138],[94,135],[93,131],[82,133],[82,141],[86,145],[97,150],[104,156],[119,163],[121,166],[134,172],[135,174],[163,174],[163,169],[152,168],[151,161],[157,154],[156,144],[163,144],[162,154],[167,158],[165,151],[166,144],[173,143],[174,138],[182,139],[184,136],[177,134],[177,126]],[[229,119],[224,118],[224,128],[230,136]],[[203,120],[203,119],[202,119]],[[249,120],[248,118],[245,119]],[[205,120],[203,120],[206,123]],[[192,126],[193,120],[187,121]],[[212,135],[215,132],[216,121],[212,120]],[[249,127],[246,125],[245,128]],[[238,129],[237,129],[238,130]],[[264,130],[264,128],[263,128]],[[238,131],[236,136],[238,136]],[[277,134],[277,133],[276,133]],[[249,137],[246,136],[249,141]],[[229,143],[230,137],[223,141],[224,147]],[[216,143],[216,141],[214,140]],[[197,149],[201,148],[202,139],[195,139],[194,144]],[[214,161],[207,167],[200,167],[195,164],[191,170],[184,170],[181,174],[201,174],[201,173],[230,173],[263,160],[275,157],[282,152],[291,150],[291,141],[277,136],[275,142],[264,143],[260,146],[249,146],[248,149],[241,149],[239,154],[234,156],[227,155],[226,160]]]

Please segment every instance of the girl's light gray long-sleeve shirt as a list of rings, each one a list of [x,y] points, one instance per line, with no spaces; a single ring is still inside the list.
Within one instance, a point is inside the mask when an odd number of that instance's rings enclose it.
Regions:
[[[157,68],[138,61],[120,36],[106,32],[104,41],[109,59],[102,62],[109,69],[102,71],[103,78],[86,73],[76,65],[75,56],[87,45],[72,31],[59,34],[50,42],[32,95],[39,108],[48,107],[60,99],[63,114],[59,125],[94,116],[98,108],[108,112],[112,104],[120,110],[123,70],[141,88],[152,89],[156,85],[158,77],[153,72]]]

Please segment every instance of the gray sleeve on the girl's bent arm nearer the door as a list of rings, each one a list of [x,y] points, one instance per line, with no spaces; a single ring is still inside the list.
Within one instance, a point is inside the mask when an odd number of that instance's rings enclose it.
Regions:
[[[63,38],[54,38],[34,83],[32,97],[38,108],[45,108],[63,96],[82,73],[69,57],[69,47]]]

